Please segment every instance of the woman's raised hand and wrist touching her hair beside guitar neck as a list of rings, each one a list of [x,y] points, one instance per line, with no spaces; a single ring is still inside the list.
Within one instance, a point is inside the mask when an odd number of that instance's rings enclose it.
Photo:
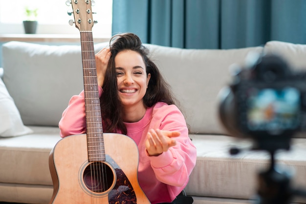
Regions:
[[[104,76],[108,67],[110,56],[111,53],[109,48],[103,48],[95,55],[98,85],[101,87],[104,82]]]

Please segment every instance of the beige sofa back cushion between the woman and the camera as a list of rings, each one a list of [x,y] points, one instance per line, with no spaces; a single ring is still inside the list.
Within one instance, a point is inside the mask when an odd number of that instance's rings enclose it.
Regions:
[[[151,58],[175,92],[190,131],[225,134],[218,118],[218,94],[232,80],[229,66],[243,63],[250,51],[261,52],[262,47],[228,50],[148,47]]]

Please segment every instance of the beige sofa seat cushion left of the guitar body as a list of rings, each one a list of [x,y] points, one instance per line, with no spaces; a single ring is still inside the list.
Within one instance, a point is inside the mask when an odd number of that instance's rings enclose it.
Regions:
[[[0,183],[52,185],[48,157],[61,139],[58,127],[30,126],[33,133],[0,138]]]

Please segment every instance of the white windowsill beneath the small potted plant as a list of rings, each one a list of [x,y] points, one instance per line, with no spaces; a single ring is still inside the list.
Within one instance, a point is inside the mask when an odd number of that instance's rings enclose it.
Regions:
[[[109,41],[110,38],[93,38],[95,43]],[[80,35],[68,34],[0,34],[0,42],[80,42]]]

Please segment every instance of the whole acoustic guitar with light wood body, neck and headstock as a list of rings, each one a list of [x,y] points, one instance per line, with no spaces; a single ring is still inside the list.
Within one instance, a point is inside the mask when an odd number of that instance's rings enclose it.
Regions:
[[[91,0],[68,3],[81,35],[87,134],[65,137],[50,152],[50,204],[150,204],[138,183],[136,143],[122,134],[103,134]]]

